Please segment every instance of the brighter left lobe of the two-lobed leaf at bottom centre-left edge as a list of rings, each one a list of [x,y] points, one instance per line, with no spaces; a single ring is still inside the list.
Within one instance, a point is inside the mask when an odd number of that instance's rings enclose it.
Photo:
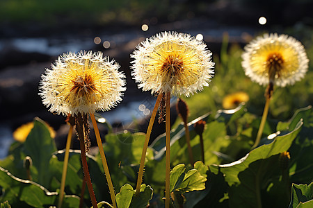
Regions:
[[[118,208],[128,208],[131,203],[135,191],[129,184],[125,184],[120,188],[120,193],[116,194],[115,200],[118,204]]]

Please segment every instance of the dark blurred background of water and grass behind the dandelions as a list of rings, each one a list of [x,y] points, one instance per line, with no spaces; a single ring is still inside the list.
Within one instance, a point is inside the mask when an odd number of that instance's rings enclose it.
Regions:
[[[250,111],[262,114],[264,87],[244,75],[243,46],[265,32],[286,33],[304,44],[312,60],[312,8],[312,0],[0,0],[0,158],[7,154],[13,131],[35,116],[62,137],[65,118],[42,105],[38,83],[45,68],[67,51],[103,51],[125,71],[122,103],[102,113],[113,126],[149,115],[154,97],[131,79],[129,54],[161,31],[189,33],[214,54],[211,87],[186,98],[191,119],[223,108],[223,98],[239,91],[250,97]],[[289,119],[297,108],[311,105],[312,78],[310,62],[307,78],[275,92],[270,117]]]

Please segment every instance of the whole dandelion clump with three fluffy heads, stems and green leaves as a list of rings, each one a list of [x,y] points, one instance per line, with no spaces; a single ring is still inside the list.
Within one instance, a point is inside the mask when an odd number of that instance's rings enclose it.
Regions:
[[[157,96],[147,133],[109,133],[104,144],[95,111],[121,101],[125,76],[99,52],[61,55],[42,76],[39,94],[49,111],[67,116],[66,148],[56,150],[51,128],[35,118],[26,140],[13,143],[0,161],[1,207],[312,206],[312,107],[297,110],[289,121],[267,118],[277,101],[275,87],[294,85],[307,73],[303,45],[267,34],[245,47],[246,75],[267,85],[262,118],[241,103],[249,99],[243,92],[227,98],[231,110],[193,114],[197,109],[182,96],[209,86],[211,55],[204,42],[183,33],[159,33],[138,45],[132,75],[138,87]],[[174,126],[171,96],[179,97],[183,121]],[[148,146],[158,111],[166,132]],[[88,153],[89,117],[96,155]],[[80,150],[70,149],[74,130]]]

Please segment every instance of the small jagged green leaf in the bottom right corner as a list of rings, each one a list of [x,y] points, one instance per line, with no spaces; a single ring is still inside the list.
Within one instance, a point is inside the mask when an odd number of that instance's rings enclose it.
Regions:
[[[292,184],[289,208],[296,208],[300,205],[300,202],[305,203],[310,200],[313,200],[313,182],[308,186],[307,184]],[[312,202],[310,203],[312,204]],[[305,207],[307,205],[302,204],[300,207]]]

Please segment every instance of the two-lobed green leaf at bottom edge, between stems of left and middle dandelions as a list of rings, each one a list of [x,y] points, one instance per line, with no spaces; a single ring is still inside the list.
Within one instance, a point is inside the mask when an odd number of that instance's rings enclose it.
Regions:
[[[133,187],[130,184],[125,184],[120,188],[120,193],[115,197],[118,208],[145,208],[149,205],[152,199],[153,190],[146,184],[141,184],[141,191],[136,196]]]

